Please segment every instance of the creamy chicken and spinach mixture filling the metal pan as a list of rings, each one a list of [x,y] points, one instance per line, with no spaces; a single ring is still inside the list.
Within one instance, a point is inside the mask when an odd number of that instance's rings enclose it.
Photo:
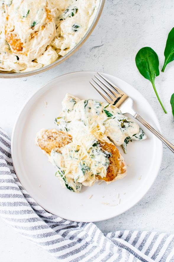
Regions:
[[[66,55],[92,24],[99,2],[0,0],[0,70],[32,71]]]

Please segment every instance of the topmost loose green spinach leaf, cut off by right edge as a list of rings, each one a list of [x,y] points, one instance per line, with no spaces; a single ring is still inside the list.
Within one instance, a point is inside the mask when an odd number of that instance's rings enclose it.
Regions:
[[[167,64],[174,60],[174,27],[168,34],[168,39],[164,50],[164,56],[165,56],[165,62],[162,68],[162,72],[164,72]]]

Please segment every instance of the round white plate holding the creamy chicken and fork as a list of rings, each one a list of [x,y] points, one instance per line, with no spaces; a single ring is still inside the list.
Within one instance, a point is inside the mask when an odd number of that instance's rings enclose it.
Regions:
[[[73,221],[101,221],[134,206],[152,186],[162,161],[162,142],[140,124],[147,140],[130,143],[127,155],[119,148],[130,165],[125,178],[110,185],[103,182],[83,187],[79,194],[61,187],[54,175],[56,169],[35,146],[35,135],[41,128],[56,128],[54,119],[61,111],[61,101],[67,92],[81,99],[104,101],[89,83],[94,74],[74,72],[45,84],[25,104],[12,134],[12,159],[21,184],[45,210]],[[137,90],[115,76],[104,75],[133,98],[134,108],[139,114],[160,130],[155,112]]]

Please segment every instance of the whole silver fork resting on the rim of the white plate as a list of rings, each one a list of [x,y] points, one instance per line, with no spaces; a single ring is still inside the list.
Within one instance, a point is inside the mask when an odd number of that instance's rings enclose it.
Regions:
[[[174,144],[171,143],[167,138],[165,138],[160,132],[155,130],[145,119],[142,118],[133,108],[133,100],[126,95],[123,91],[121,91],[115,84],[111,83],[108,79],[106,79],[103,75],[97,73],[102,79],[95,76],[96,79],[92,80],[97,84],[92,84],[92,86],[100,93],[100,95],[105,98],[105,100],[116,107],[118,107],[122,114],[129,113],[139,122],[141,122],[145,127],[147,127],[154,135],[157,136],[170,150],[174,153]],[[105,81],[103,81],[105,80]],[[103,87],[104,86],[104,87]],[[110,92],[109,92],[110,91]],[[108,96],[107,96],[107,95]],[[110,97],[110,99],[108,98]]]

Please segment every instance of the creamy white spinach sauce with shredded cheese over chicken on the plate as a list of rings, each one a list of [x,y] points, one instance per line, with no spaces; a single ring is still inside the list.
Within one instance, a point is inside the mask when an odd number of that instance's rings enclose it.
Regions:
[[[117,146],[123,145],[126,151],[127,140],[146,138],[139,125],[115,106],[80,100],[71,94],[66,94],[62,101],[62,112],[55,123],[58,130],[73,138],[61,148],[61,153],[52,151],[51,158],[58,167],[57,176],[66,179],[74,191],[81,190],[79,183],[92,186],[96,175],[106,177],[110,154],[101,150],[99,141],[111,143],[111,140]]]

